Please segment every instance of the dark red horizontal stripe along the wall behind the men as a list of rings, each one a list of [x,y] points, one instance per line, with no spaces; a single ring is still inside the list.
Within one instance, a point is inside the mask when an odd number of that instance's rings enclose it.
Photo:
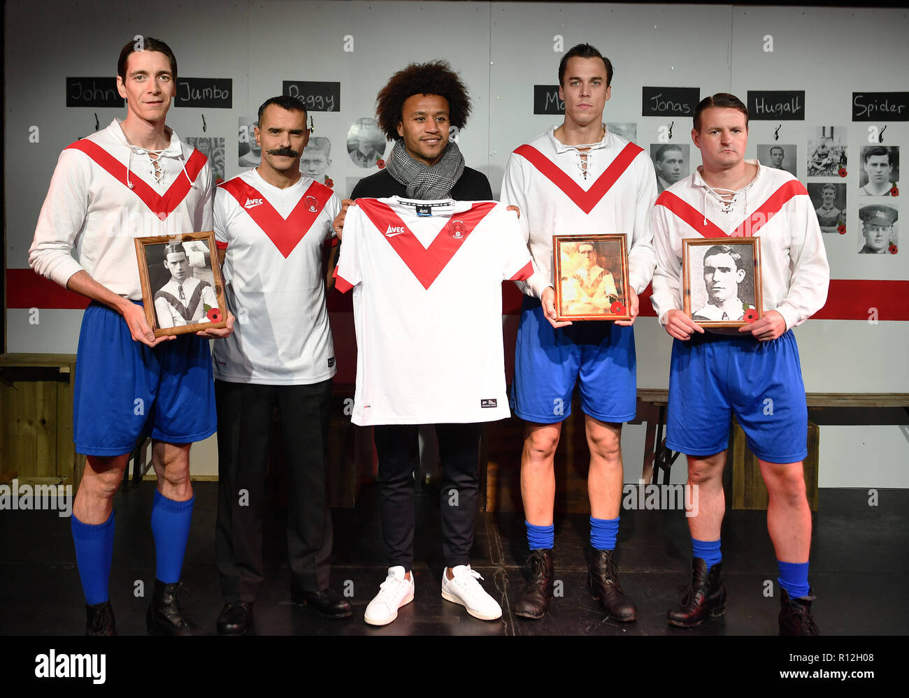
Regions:
[[[654,317],[648,285],[639,296],[641,317]],[[502,284],[502,313],[521,312],[521,293],[517,286]],[[65,308],[83,310],[88,299],[63,286],[48,281],[31,269],[6,270],[6,307],[8,308]],[[909,321],[909,281],[871,281],[867,279],[834,279],[830,282],[827,303],[814,314],[818,320],[867,320],[877,308],[878,320]],[[332,313],[352,313],[350,294],[332,291],[328,294],[328,310]]]

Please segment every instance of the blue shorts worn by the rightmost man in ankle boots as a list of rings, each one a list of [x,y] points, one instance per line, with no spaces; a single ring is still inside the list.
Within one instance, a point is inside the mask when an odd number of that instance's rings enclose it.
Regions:
[[[808,454],[808,407],[792,331],[771,342],[705,332],[673,344],[666,446],[701,456],[724,451],[731,415],[767,463]]]

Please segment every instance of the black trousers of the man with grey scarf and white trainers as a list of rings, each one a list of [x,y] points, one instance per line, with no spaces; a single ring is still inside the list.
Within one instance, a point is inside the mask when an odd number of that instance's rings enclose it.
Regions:
[[[388,564],[414,564],[414,471],[420,461],[415,424],[373,427],[379,456],[379,514]],[[445,565],[470,563],[480,486],[480,424],[435,424],[442,461],[440,509]]]

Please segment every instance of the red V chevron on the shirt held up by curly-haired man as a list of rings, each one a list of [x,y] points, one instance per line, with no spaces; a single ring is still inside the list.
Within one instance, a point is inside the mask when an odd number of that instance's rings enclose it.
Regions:
[[[474,232],[477,224],[495,207],[494,202],[474,204],[468,211],[452,214],[445,227],[435,235],[432,244],[424,247],[401,220],[401,216],[395,214],[388,204],[376,199],[358,199],[356,205],[363,209],[366,217],[385,236],[388,244],[391,244],[417,281],[427,290],[452,261],[464,240]]]

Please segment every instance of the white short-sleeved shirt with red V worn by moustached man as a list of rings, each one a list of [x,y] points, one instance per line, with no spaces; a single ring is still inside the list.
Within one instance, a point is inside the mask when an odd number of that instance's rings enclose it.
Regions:
[[[215,241],[236,323],[214,344],[215,378],[305,385],[335,375],[322,254],[340,211],[332,190],[306,176],[279,189],[252,169],[218,185]]]

